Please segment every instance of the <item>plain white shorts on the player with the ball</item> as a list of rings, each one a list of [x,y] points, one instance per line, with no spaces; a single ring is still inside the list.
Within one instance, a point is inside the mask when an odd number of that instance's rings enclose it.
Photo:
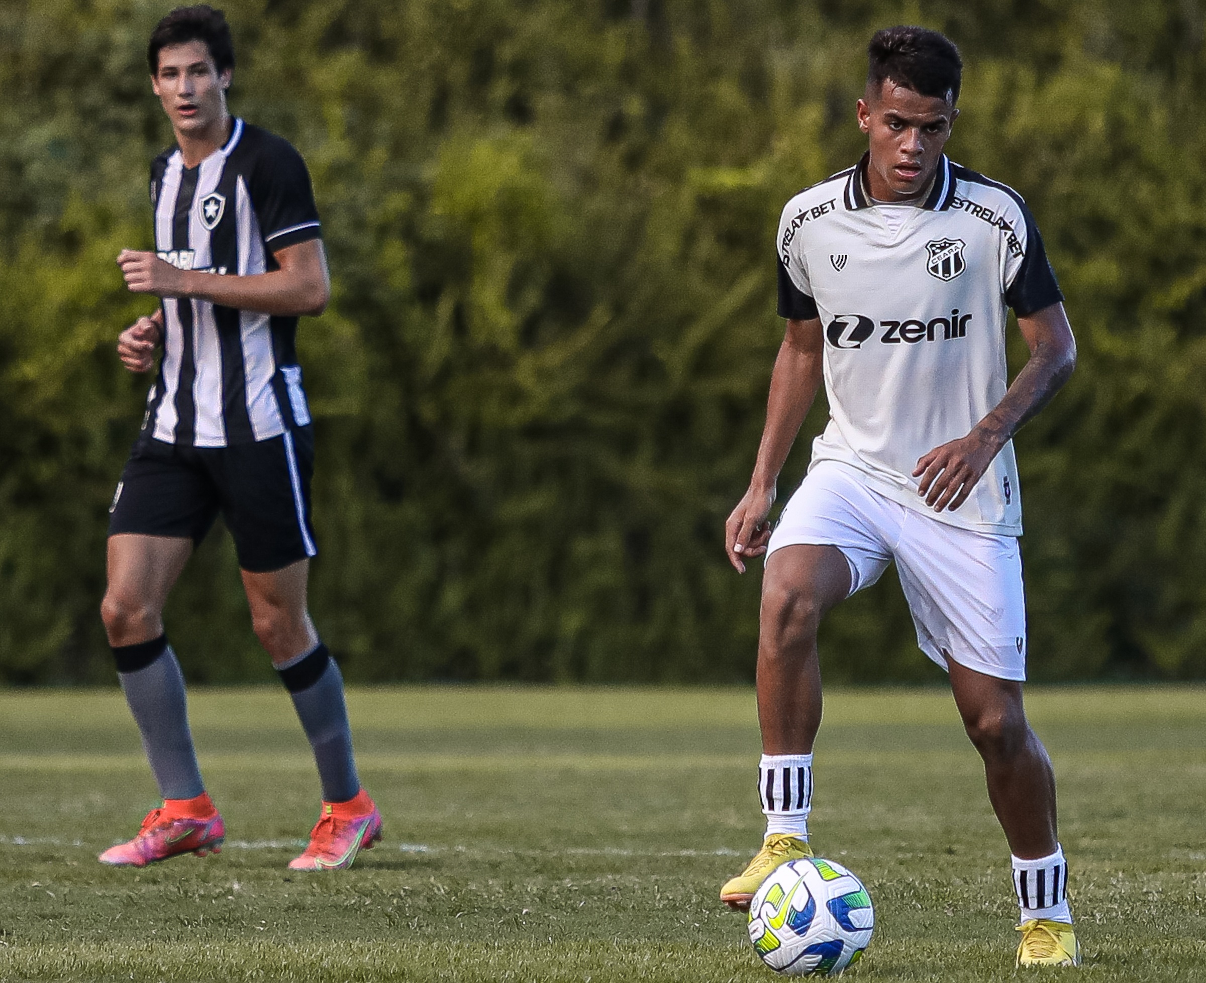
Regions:
[[[999,679],[1026,678],[1026,599],[1013,536],[931,519],[877,493],[857,470],[818,462],[771,534],[767,558],[784,546],[837,546],[850,564],[850,593],[896,561],[917,643]]]

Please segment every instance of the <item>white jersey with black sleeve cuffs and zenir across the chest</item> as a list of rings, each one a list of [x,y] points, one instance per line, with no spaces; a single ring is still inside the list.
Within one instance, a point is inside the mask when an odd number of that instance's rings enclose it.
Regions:
[[[943,157],[925,203],[885,221],[863,191],[867,160],[797,194],[779,223],[779,314],[820,317],[825,332],[830,422],[813,463],[850,464],[938,521],[1018,536],[1012,441],[955,511],[927,508],[913,470],[1005,396],[1006,308],[1064,299],[1034,217],[1017,192]]]

